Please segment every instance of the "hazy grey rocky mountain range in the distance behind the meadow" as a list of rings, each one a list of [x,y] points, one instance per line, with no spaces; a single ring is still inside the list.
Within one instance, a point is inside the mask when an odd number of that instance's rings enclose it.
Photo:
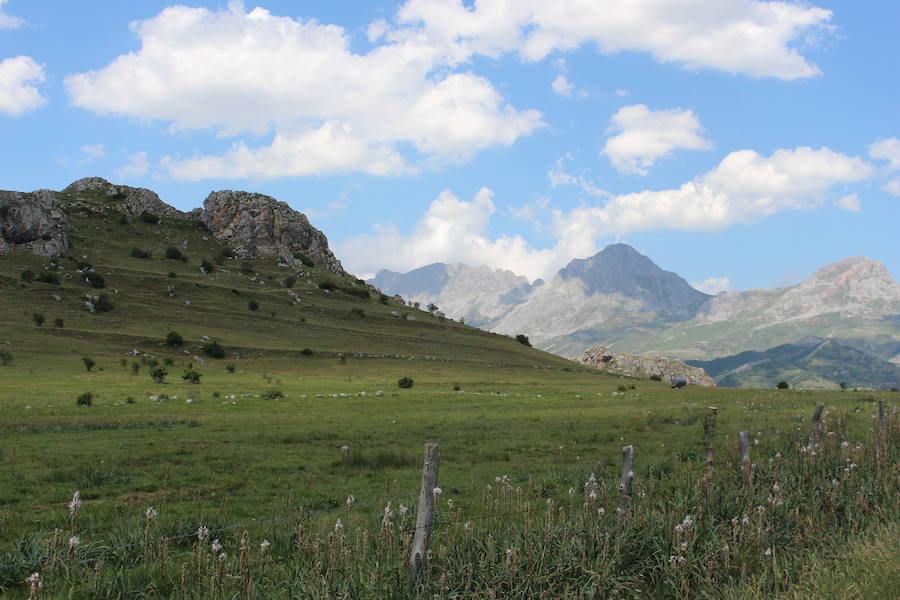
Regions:
[[[715,296],[626,244],[573,260],[547,282],[437,263],[405,274],[379,271],[369,283],[490,331],[524,333],[535,346],[573,358],[604,344],[708,361],[813,336],[900,364],[900,284],[864,256],[826,265],[797,285]]]

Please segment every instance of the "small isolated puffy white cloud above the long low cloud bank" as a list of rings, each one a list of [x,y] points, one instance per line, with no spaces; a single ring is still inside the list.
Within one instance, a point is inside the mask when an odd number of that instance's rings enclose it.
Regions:
[[[660,158],[678,149],[708,150],[712,143],[691,110],[650,110],[644,104],[623,106],[610,119],[609,138],[602,153],[620,173],[646,175]]]

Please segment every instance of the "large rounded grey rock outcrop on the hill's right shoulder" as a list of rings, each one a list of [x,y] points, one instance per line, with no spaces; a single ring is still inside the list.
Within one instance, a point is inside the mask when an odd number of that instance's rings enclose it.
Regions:
[[[325,234],[310,225],[306,215],[271,196],[212,192],[203,202],[200,219],[216,238],[230,241],[239,255],[274,254],[288,264],[300,264],[302,253],[317,266],[343,273]]]

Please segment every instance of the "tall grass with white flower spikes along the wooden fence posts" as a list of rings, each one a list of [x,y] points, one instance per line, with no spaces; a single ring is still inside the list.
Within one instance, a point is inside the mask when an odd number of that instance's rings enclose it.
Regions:
[[[480,496],[447,486],[418,581],[407,566],[414,511],[351,498],[257,526],[225,526],[225,511],[196,521],[148,511],[102,541],[89,514],[75,515],[70,530],[28,536],[0,557],[43,559],[4,568],[0,589],[27,598],[35,580],[26,578],[38,573],[41,598],[754,598],[801,583],[811,591],[783,597],[813,597],[816,581],[801,581],[810,561],[872,528],[896,531],[900,427],[892,416],[886,432],[862,440],[838,427],[814,452],[805,441],[760,440],[749,488],[734,447],[708,485],[699,461],[648,467],[627,514],[617,514],[615,465],[521,483],[499,476]],[[352,466],[394,460],[352,456]],[[860,565],[866,548],[855,550]]]

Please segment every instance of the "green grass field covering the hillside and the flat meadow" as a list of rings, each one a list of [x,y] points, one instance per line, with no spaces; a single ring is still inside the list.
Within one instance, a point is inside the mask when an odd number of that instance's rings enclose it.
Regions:
[[[100,200],[69,216],[67,257],[0,258],[0,351],[11,355],[0,365],[0,595],[29,597],[25,578],[39,572],[41,598],[767,597],[831,585],[805,574],[890,547],[897,425],[892,416],[873,438],[872,416],[879,399],[896,407],[895,394],[673,390],[611,377],[379,298],[352,277],[224,258],[194,222],[123,224]],[[186,262],[164,258],[169,247]],[[219,264],[203,273],[201,260]],[[28,270],[59,283],[25,281]],[[91,270],[102,288],[85,280]],[[86,310],[85,296],[99,293],[111,311]],[[170,331],[184,344],[167,345]],[[212,340],[223,358],[204,352]],[[199,384],[182,379],[189,371]],[[403,377],[411,388],[398,387]],[[77,405],[85,393],[92,405]],[[834,436],[810,461],[797,447],[819,401]],[[711,492],[699,484],[709,406]],[[752,491],[740,487],[739,430],[758,440]],[[426,442],[440,444],[441,526],[416,587],[405,554]],[[626,444],[638,495],[619,524]],[[829,491],[851,460],[858,471]],[[592,472],[599,498],[582,506]],[[757,537],[731,532],[729,519],[766,504],[779,481],[793,482],[785,508]],[[558,514],[548,516],[548,498]],[[709,518],[682,569],[670,560],[684,543],[672,527],[697,511]],[[464,527],[473,522],[476,533]],[[226,558],[197,542],[201,526]],[[244,529],[271,551],[241,550]],[[722,544],[743,558],[723,562]],[[779,557],[769,566],[766,544]],[[864,572],[854,569],[834,585]]]

